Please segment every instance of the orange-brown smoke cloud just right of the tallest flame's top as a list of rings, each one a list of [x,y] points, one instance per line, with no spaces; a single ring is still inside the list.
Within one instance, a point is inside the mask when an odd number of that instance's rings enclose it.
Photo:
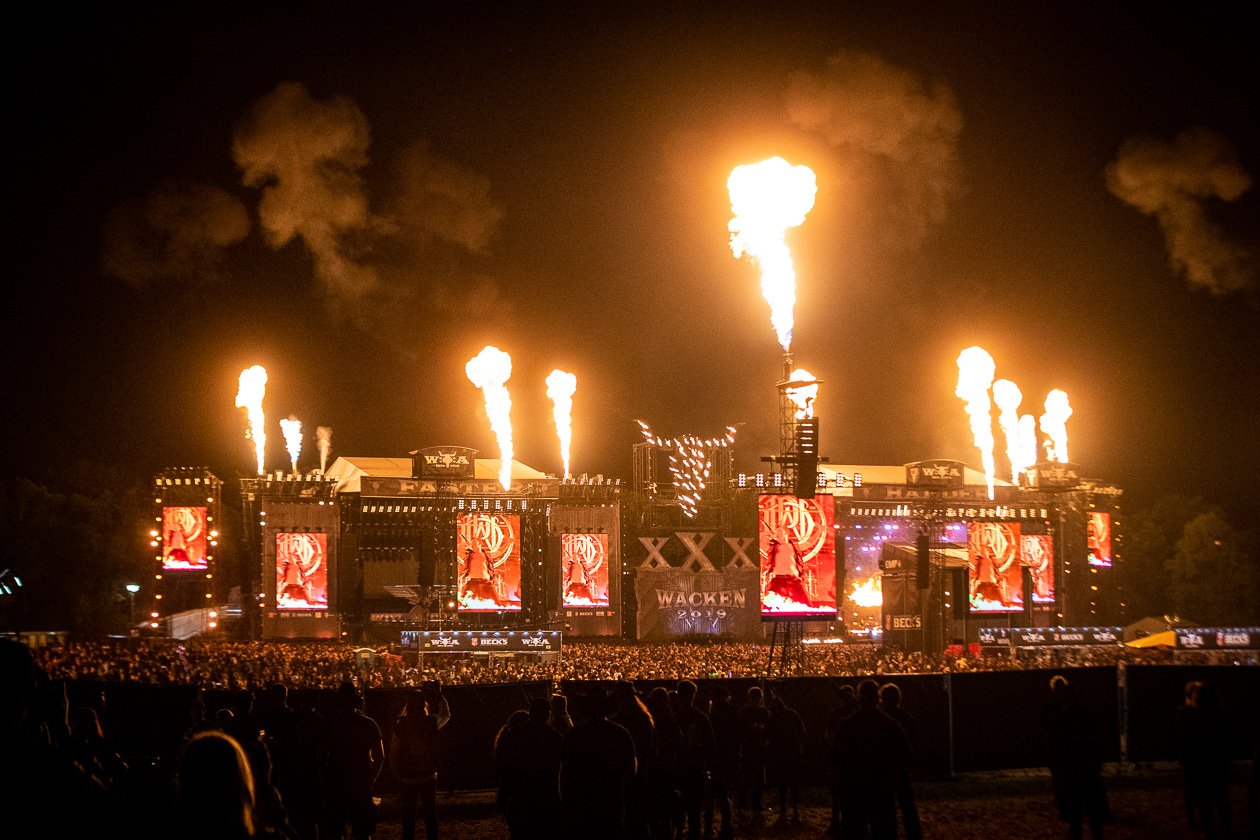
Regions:
[[[960,186],[963,116],[954,93],[868,53],[842,50],[793,76],[788,116],[844,157],[854,207],[871,208],[886,242],[919,242]]]

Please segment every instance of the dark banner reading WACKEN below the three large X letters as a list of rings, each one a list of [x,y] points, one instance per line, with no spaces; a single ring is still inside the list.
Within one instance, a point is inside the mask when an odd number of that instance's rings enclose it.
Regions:
[[[639,639],[668,641],[679,636],[761,637],[757,611],[757,570],[726,567],[693,572],[660,567],[640,569]]]

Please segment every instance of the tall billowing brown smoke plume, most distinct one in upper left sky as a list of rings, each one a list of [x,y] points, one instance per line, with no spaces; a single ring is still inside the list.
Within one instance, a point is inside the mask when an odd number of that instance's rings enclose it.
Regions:
[[[368,120],[345,97],[315,99],[284,82],[237,125],[232,156],[247,186],[262,189],[258,220],[272,248],[301,238],[331,302],[353,305],[377,272],[355,244],[382,228],[359,171],[368,164]]]

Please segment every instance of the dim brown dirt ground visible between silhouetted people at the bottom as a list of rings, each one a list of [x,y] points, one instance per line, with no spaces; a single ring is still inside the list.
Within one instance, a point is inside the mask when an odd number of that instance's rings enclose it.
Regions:
[[[1232,837],[1256,837],[1247,822],[1242,780],[1246,768],[1237,768],[1237,783],[1231,788],[1234,805]],[[1045,772],[984,773],[959,776],[948,781],[920,782],[915,787],[922,816],[924,836],[929,840],[1037,840],[1067,836],[1050,797],[1050,777]],[[760,822],[751,815],[736,821],[737,837],[774,840],[824,839],[829,817],[827,795],[820,788],[801,792],[801,821],[781,822],[767,812]],[[1114,771],[1108,776],[1111,819],[1109,840],[1181,840],[1202,837],[1186,826],[1181,776],[1176,768],[1155,767]],[[775,802],[771,795],[767,802]],[[387,800],[377,837],[401,836],[397,812]],[[486,791],[446,793],[438,798],[441,835],[452,840],[507,837],[507,826],[495,811],[494,793]],[[423,826],[418,826],[423,837]],[[1086,836],[1089,832],[1086,831]]]

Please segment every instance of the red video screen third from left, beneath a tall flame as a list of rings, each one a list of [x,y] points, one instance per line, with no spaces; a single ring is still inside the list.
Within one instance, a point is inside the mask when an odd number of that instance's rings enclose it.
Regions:
[[[456,521],[459,610],[520,610],[520,516],[464,514]]]

